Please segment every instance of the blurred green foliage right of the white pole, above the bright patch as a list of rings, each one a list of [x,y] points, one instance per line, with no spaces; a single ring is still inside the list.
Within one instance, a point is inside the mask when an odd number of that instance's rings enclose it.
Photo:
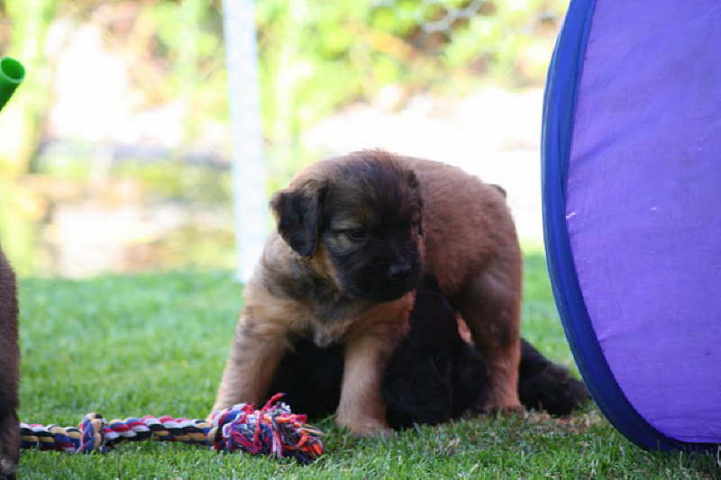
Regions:
[[[539,84],[562,0],[261,0],[265,131],[278,184],[303,163],[300,132],[384,86],[463,95]],[[458,14],[469,9],[470,15]],[[400,104],[401,106],[402,99]]]

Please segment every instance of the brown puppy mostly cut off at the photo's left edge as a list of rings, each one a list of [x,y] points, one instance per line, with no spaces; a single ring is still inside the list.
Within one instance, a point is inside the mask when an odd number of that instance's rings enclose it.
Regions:
[[[0,249],[0,478],[14,478],[20,457],[17,418],[20,350],[15,276]]]

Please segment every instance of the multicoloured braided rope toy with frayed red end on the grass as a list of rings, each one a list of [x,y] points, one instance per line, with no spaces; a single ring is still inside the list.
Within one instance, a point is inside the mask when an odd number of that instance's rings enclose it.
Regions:
[[[107,422],[99,413],[88,413],[77,428],[21,422],[21,448],[105,453],[121,441],[158,439],[228,453],[292,457],[308,464],[324,453],[323,432],[308,425],[306,415],[292,413],[286,403],[278,402],[282,396],[273,395],[260,410],[248,403],[219,410],[210,421],[148,415]]]

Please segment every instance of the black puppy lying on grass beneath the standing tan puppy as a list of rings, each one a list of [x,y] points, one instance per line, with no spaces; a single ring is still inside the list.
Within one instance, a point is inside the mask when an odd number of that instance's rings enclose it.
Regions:
[[[586,387],[568,370],[553,364],[525,340],[521,345],[519,396],[526,408],[565,415],[589,398]],[[294,412],[323,417],[335,411],[342,381],[342,346],[326,349],[311,340],[294,342],[268,394],[284,392]],[[437,424],[483,404],[488,366],[461,339],[455,312],[431,277],[418,287],[410,332],[388,363],[382,393],[388,424]]]

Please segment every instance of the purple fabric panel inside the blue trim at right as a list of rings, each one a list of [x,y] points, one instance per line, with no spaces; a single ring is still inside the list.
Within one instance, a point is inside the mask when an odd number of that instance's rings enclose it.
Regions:
[[[616,381],[668,437],[721,442],[721,2],[598,0],[567,186]]]

